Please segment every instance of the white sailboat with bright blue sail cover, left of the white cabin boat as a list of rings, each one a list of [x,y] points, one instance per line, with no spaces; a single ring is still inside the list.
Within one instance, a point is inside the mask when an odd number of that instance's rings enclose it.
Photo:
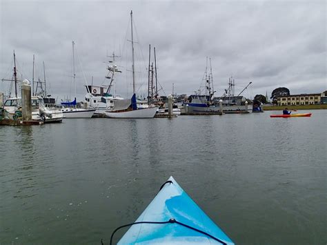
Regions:
[[[75,86],[75,99],[73,101],[61,102],[61,111],[63,112],[63,117],[66,118],[91,118],[95,113],[95,109],[83,109],[76,108],[76,82],[75,82],[75,55],[74,55],[74,41],[72,41],[72,69],[73,69],[73,80]]]

